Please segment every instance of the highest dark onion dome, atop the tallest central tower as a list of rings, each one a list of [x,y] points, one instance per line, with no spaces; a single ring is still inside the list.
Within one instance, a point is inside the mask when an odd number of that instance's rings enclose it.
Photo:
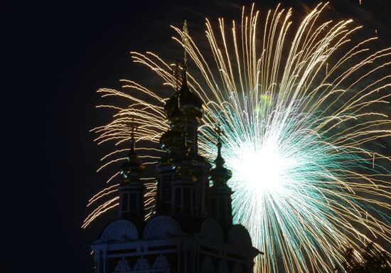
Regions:
[[[186,75],[186,70],[183,75],[183,82],[181,86],[181,90],[179,90],[179,109],[184,114],[194,114],[197,118],[202,118],[203,113],[205,112],[205,105],[203,100],[191,92],[188,87],[188,80]]]

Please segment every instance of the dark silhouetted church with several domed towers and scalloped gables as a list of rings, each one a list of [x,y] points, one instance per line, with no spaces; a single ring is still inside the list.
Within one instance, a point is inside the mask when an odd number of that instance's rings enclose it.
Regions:
[[[144,166],[131,149],[121,168],[118,219],[90,246],[96,273],[250,273],[260,254],[242,225],[232,224],[232,190],[218,137],[211,168],[198,154],[198,126],[205,105],[188,87],[166,101],[170,128],[160,139],[166,151],[156,166],[154,215],[144,220]],[[219,132],[220,136],[220,132]],[[211,186],[210,186],[211,185]]]

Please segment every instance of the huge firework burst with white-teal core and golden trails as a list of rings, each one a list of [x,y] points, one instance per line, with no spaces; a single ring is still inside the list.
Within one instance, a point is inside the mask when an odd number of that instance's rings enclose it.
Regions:
[[[353,42],[360,27],[352,20],[323,21],[326,5],[316,6],[296,31],[291,31],[291,9],[279,6],[264,16],[261,27],[254,6],[249,14],[243,9],[242,20],[233,21],[229,30],[222,18],[217,32],[206,20],[212,60],[191,36],[173,27],[179,37],[174,39],[193,62],[188,84],[207,105],[200,153],[214,159],[213,128],[221,124],[222,154],[232,171],[234,221],[245,225],[254,245],[265,252],[257,260],[260,272],[333,272],[346,245],[358,248],[375,238],[391,242],[391,159],[374,148],[378,139],[391,135],[386,111],[378,110],[388,107],[391,96],[386,70],[391,48],[371,52],[375,38]],[[181,43],[183,36],[188,43]],[[132,58],[151,68],[164,85],[178,85],[173,65],[158,55],[132,52]],[[164,98],[134,81],[122,82],[122,90],[98,92],[123,97],[129,107],[100,106],[116,114],[92,131],[98,143],[119,145],[130,138],[126,124],[134,118],[139,142],[156,144],[153,152],[139,148],[145,164],[153,164],[159,137],[168,129]],[[123,152],[105,156],[102,168],[122,160],[118,155]],[[156,185],[154,178],[144,179],[148,218]],[[110,185],[91,198],[89,205],[100,205],[83,227],[117,205],[115,197],[109,198],[114,191]]]

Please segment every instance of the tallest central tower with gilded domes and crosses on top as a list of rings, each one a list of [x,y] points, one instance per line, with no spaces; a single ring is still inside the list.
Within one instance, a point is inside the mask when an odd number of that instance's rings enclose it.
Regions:
[[[183,26],[183,71],[176,65],[176,92],[164,106],[170,129],[160,143],[166,155],[156,167],[158,193],[156,212],[171,215],[206,215],[206,190],[210,165],[198,155],[198,127],[205,112],[203,100],[191,91],[187,75],[188,30]],[[178,83],[181,83],[178,87]]]

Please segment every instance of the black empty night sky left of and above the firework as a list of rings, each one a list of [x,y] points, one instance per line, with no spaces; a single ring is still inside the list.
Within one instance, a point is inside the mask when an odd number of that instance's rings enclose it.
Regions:
[[[193,3],[197,2],[197,4]],[[233,2],[233,1],[232,1]],[[100,87],[128,78],[145,82],[147,70],[129,51],[151,50],[166,58],[175,43],[169,25],[203,18],[240,18],[251,1],[13,1],[3,4],[1,45],[3,141],[0,272],[92,272],[87,245],[105,221],[82,230],[87,200],[102,187],[95,171],[105,148],[92,127],[109,117],[95,109]],[[277,3],[277,2],[276,2]],[[391,1],[331,1],[341,18],[353,17],[380,44],[391,45]],[[282,1],[302,16],[312,1]],[[266,11],[274,1],[259,1]],[[297,17],[295,17],[297,18]],[[299,19],[297,19],[299,21]],[[175,48],[175,47],[174,47]],[[176,47],[178,50],[180,48]]]

